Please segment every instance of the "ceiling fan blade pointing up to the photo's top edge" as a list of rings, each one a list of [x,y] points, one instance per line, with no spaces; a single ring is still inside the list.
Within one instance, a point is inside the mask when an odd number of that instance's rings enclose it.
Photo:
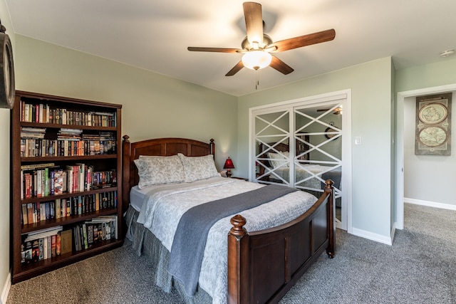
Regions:
[[[253,46],[254,42],[263,42],[263,16],[261,4],[255,2],[244,2],[245,26],[247,28],[247,39]]]

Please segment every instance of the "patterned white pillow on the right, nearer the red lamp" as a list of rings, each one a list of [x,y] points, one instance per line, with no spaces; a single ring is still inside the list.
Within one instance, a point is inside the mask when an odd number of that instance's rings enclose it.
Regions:
[[[195,182],[200,179],[208,179],[209,177],[219,177],[217,168],[214,163],[214,156],[212,154],[187,157],[184,154],[177,153],[184,165],[185,182]]]

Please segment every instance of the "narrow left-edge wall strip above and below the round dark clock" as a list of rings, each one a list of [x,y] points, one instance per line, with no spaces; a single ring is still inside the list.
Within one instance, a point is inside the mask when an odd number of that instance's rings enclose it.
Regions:
[[[7,14],[8,9],[4,0],[0,1],[1,24],[6,27],[11,45],[13,46],[13,56],[16,56],[16,37],[11,26],[11,19]],[[10,182],[9,182],[9,130],[10,130],[10,110],[0,109],[0,295],[4,291],[4,286],[9,278],[9,202],[10,202]],[[0,303],[6,299],[0,298]]]

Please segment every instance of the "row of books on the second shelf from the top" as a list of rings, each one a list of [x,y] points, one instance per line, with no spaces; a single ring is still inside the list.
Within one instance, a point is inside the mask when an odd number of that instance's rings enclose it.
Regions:
[[[58,133],[56,140],[45,139],[46,129],[22,127],[21,157],[84,156],[117,153],[113,132],[81,134],[76,130]]]

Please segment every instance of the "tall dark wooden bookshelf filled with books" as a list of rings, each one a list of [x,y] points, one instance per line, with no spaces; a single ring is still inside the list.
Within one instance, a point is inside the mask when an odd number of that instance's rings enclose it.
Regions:
[[[122,245],[121,109],[111,103],[16,91],[11,111],[12,283]],[[117,220],[99,224],[100,239],[90,243],[86,236],[88,246],[75,248],[74,228],[98,225],[91,221],[100,216]],[[115,228],[117,239],[108,239],[104,225]],[[71,229],[72,251],[41,256],[41,249],[39,258],[24,261],[24,239],[53,228]],[[80,237],[84,241],[82,230]]]

